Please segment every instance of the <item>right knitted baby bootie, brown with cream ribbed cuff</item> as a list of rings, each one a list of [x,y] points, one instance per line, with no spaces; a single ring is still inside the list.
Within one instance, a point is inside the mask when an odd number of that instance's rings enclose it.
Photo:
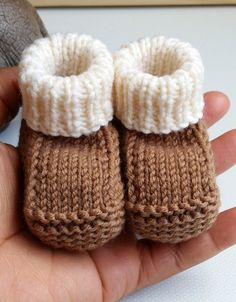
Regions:
[[[114,68],[130,224],[154,241],[195,237],[213,224],[220,204],[201,120],[200,55],[177,39],[147,38],[115,53]]]

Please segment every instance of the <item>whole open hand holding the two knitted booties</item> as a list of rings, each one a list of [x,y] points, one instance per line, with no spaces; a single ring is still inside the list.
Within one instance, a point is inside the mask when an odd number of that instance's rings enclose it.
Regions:
[[[0,71],[0,125],[18,109],[17,69]],[[205,94],[208,126],[228,110],[220,92]],[[217,174],[236,162],[236,130],[212,141]],[[126,229],[87,253],[52,250],[27,231],[22,219],[17,149],[0,144],[0,292],[2,301],[117,301],[160,282],[236,243],[236,208],[221,213],[208,231],[184,243],[137,241]],[[233,188],[232,188],[233,189]]]

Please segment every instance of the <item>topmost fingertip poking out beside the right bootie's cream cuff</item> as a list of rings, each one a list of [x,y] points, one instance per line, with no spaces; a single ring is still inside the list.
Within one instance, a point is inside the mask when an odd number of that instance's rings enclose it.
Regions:
[[[217,91],[205,93],[204,99],[203,118],[206,125],[210,127],[226,114],[229,110],[230,102],[224,93]]]

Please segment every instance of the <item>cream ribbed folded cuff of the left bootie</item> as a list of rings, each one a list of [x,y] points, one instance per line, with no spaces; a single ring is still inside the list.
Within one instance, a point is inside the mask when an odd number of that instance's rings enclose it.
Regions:
[[[22,55],[19,84],[23,118],[33,130],[79,137],[113,118],[113,60],[90,36],[54,34]]]

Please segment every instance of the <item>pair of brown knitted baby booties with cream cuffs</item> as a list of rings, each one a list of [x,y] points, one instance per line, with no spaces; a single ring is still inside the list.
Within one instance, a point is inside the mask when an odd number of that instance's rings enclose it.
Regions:
[[[201,120],[203,72],[196,49],[163,36],[113,58],[86,35],[29,46],[19,64],[19,151],[31,232],[86,251],[118,236],[125,218],[160,242],[207,230],[220,202]]]

